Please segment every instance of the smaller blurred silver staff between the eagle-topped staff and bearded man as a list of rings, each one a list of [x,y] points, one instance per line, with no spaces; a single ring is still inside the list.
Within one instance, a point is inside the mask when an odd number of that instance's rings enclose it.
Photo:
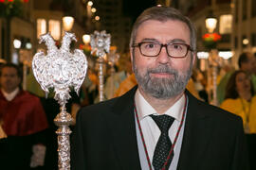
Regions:
[[[97,62],[99,63],[99,98],[100,101],[104,100],[104,76],[103,76],[103,63],[104,63],[104,57],[106,53],[109,53],[110,48],[110,34],[106,34],[106,31],[103,30],[101,32],[94,31],[94,34],[91,34],[91,47],[92,51],[91,53],[96,52],[96,56],[99,58],[97,59]]]

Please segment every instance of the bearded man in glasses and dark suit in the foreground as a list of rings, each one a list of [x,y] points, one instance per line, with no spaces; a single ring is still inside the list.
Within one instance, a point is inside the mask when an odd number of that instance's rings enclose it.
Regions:
[[[196,33],[175,8],[147,8],[132,29],[137,86],[83,108],[71,144],[75,170],[247,170],[241,117],[185,90]]]

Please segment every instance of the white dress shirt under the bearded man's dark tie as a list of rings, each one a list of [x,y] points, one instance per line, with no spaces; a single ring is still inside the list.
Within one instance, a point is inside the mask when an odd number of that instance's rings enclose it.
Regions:
[[[182,119],[182,113],[186,109],[185,101],[186,101],[185,94],[183,94],[170,109],[164,112],[164,114],[170,115],[175,119],[172,127],[170,127],[169,129],[169,137],[172,141],[172,144],[174,144],[174,138]],[[160,114],[158,114],[156,110],[145,100],[142,94],[139,93],[138,89],[135,95],[135,102],[137,107],[137,116],[139,119],[139,124],[143,133],[143,138],[144,138],[146,147],[147,147],[148,156],[152,163],[154,151],[155,151],[155,145],[158,141],[158,138],[161,132],[157,127],[157,125],[155,124],[155,121],[149,115],[150,114],[160,115]],[[185,121],[183,124],[185,124]],[[179,152],[181,148],[182,137],[183,137],[184,126],[185,125],[183,125],[180,131],[180,134],[178,136],[179,140],[174,145],[174,159],[171,163],[171,166],[172,164],[174,164],[175,167],[177,165]]]

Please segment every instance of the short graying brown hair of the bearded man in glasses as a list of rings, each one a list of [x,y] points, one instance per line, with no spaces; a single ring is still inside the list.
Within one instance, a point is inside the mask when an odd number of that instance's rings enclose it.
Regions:
[[[137,20],[133,26],[131,39],[130,39],[130,47],[132,47],[133,44],[136,42],[138,27],[148,20],[155,20],[159,22],[166,22],[168,20],[173,20],[173,21],[180,21],[182,23],[185,23],[190,29],[190,36],[191,36],[190,45],[192,47],[192,51],[196,50],[196,33],[195,33],[195,28],[192,25],[192,22],[188,17],[181,14],[180,11],[170,7],[153,7],[153,8],[147,8],[146,10],[144,10],[137,17]]]

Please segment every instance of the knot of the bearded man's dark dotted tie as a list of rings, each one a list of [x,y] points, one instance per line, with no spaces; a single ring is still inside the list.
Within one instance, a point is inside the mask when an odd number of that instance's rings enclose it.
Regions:
[[[163,115],[150,115],[153,120],[155,121],[155,124],[161,132],[168,132],[169,128],[174,123],[174,117],[171,117],[169,115],[163,114]]]

